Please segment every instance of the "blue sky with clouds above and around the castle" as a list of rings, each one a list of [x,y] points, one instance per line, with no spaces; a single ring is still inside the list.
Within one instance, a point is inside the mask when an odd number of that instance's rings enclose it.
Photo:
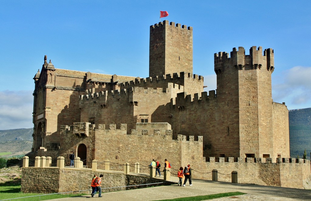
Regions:
[[[272,98],[311,107],[310,1],[0,1],[0,130],[31,128],[44,55],[55,68],[148,77],[149,27],[193,27],[193,73],[216,89],[214,53],[274,49]]]

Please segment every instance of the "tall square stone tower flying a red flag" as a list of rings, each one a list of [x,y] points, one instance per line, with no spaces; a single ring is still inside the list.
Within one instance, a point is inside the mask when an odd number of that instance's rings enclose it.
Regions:
[[[192,30],[167,20],[150,26],[149,77],[193,73]]]

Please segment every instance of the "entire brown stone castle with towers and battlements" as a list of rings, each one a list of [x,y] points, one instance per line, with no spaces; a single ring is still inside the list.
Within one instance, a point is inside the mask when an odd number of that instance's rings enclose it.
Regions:
[[[58,69],[45,56],[34,77],[33,156],[74,151],[86,166],[94,159],[148,163],[164,161],[161,150],[184,138],[199,145],[174,148],[176,167],[210,157],[290,157],[288,110],[272,100],[273,49],[215,53],[217,90],[206,92],[203,77],[193,74],[192,27],[150,26],[149,47],[147,78]],[[157,139],[141,141],[145,135]]]

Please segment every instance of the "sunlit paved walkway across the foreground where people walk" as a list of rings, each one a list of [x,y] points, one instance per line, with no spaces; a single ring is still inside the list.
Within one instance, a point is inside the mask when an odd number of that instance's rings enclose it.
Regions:
[[[171,177],[171,180],[178,180],[177,177]],[[210,180],[192,180],[192,186],[187,182],[186,186],[159,186],[153,188],[125,190],[118,192],[103,193],[102,198],[96,194],[94,198],[91,195],[85,195],[73,198],[53,199],[53,201],[82,201],[82,200],[109,200],[109,201],[148,201],[160,199],[174,199],[179,197],[191,197],[197,195],[209,195],[226,192],[242,192],[244,195],[218,198],[213,200],[311,200],[311,190],[291,189],[272,186],[250,185],[250,184],[232,184],[227,182]],[[91,193],[91,192],[90,192]]]

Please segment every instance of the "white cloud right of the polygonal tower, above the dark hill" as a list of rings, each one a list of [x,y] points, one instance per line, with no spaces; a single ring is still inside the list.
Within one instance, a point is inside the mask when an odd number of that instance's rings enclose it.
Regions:
[[[289,110],[311,107],[311,67],[295,66],[272,80],[272,98]]]

